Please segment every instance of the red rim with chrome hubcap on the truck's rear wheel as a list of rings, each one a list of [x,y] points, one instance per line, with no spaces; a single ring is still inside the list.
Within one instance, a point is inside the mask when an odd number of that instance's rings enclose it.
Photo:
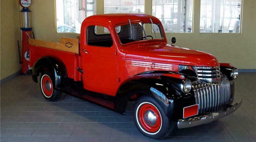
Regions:
[[[52,95],[52,91],[53,91],[52,80],[47,75],[44,75],[42,78],[42,89],[43,89],[44,94],[47,97],[50,97]]]

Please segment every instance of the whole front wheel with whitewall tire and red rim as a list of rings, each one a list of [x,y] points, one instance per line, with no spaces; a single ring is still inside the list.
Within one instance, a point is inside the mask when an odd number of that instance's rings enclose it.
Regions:
[[[172,132],[171,120],[151,97],[141,97],[135,102],[133,116],[137,129],[144,136],[162,139]]]

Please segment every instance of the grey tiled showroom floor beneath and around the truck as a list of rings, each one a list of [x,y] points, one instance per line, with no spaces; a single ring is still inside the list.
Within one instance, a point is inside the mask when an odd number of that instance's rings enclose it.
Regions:
[[[236,101],[242,107],[213,123],[174,129],[168,142],[255,142],[256,73],[240,73]],[[65,95],[64,95],[65,96]],[[155,142],[142,136],[132,120],[132,103],[123,116],[70,95],[46,101],[31,76],[1,84],[1,142]]]

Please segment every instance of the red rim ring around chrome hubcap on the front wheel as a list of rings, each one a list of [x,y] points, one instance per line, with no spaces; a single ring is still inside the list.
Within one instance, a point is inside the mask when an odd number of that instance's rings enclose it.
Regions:
[[[156,123],[154,125],[148,124],[147,121],[145,120],[145,115],[146,115],[146,112],[148,110],[153,112],[156,116]],[[160,127],[161,127],[161,116],[160,116],[160,113],[156,109],[155,106],[153,106],[149,103],[145,103],[145,104],[141,105],[140,108],[139,108],[138,116],[139,116],[139,121],[140,121],[139,123],[141,124],[142,128],[145,131],[148,131],[150,133],[155,133],[160,129]]]

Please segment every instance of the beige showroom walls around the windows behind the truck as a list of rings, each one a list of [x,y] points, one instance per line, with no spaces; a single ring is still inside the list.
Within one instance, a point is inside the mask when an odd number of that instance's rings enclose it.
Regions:
[[[151,14],[152,1],[145,1],[145,13]],[[20,9],[14,0],[10,3],[2,2],[1,79],[20,69],[16,47],[16,41],[20,39]],[[244,0],[242,6],[241,34],[199,34],[200,0],[194,0],[194,32],[167,33],[168,41],[170,43],[174,36],[177,39],[176,46],[208,52],[216,56],[219,62],[232,63],[239,69],[256,69],[256,1]],[[36,39],[59,42],[62,36],[76,38],[78,34],[56,33],[54,7],[54,0],[32,1],[29,9],[32,11],[32,27]],[[97,0],[97,14],[103,11],[103,0]]]

